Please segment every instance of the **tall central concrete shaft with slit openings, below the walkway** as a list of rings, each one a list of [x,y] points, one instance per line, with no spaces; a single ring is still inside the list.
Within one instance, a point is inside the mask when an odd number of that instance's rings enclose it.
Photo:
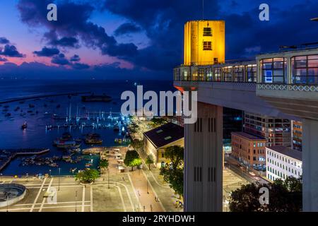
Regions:
[[[184,125],[184,210],[222,211],[223,107],[198,102],[196,124]]]

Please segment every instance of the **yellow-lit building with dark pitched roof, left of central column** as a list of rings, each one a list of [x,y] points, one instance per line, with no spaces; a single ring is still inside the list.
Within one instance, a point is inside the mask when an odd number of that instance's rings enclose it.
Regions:
[[[179,145],[184,146],[184,129],[182,126],[168,122],[163,126],[143,133],[143,150],[147,155],[153,155],[157,167],[165,164],[165,148]]]

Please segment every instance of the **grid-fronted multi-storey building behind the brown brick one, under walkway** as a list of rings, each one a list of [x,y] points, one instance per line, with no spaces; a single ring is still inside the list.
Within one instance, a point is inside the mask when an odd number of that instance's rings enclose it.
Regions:
[[[265,138],[267,147],[274,145],[290,147],[291,133],[289,119],[245,112],[244,131]]]

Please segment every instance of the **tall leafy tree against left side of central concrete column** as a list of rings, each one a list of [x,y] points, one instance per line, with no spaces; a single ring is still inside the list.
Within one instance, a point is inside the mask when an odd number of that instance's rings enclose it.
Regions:
[[[165,149],[165,157],[170,163],[160,168],[160,175],[167,182],[176,194],[183,197],[183,177],[184,177],[184,148],[173,145]]]

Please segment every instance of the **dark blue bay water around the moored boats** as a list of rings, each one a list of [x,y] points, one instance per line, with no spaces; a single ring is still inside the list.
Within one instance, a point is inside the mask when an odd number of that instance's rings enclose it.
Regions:
[[[22,97],[33,97],[30,100],[20,103],[9,102],[0,106],[0,150],[8,148],[49,148],[49,153],[41,157],[66,155],[63,151],[52,146],[52,141],[60,137],[64,132],[71,133],[73,138],[83,138],[83,134],[95,132],[99,133],[102,138],[102,146],[117,145],[114,143],[115,138],[122,138],[122,134],[114,132],[113,129],[93,129],[84,128],[69,129],[59,128],[46,130],[46,125],[64,124],[63,120],[53,119],[52,115],[57,114],[60,117],[66,117],[71,108],[71,115],[87,117],[90,119],[103,116],[107,118],[112,112],[112,117],[120,117],[120,108],[124,100],[120,100],[122,92],[131,90],[136,93],[136,81],[30,81],[30,80],[7,80],[0,81],[0,102],[5,100],[18,100]],[[160,90],[174,91],[171,81],[139,81],[143,85],[143,90]],[[112,102],[81,102],[81,95],[50,96],[36,98],[37,95],[57,95],[61,93],[95,93],[110,95]],[[30,108],[29,105],[35,107]],[[7,112],[3,112],[4,106],[8,106],[8,112],[12,118],[5,117]],[[58,108],[57,105],[60,105]],[[20,107],[17,111],[15,109]],[[83,108],[85,107],[85,108]],[[20,116],[21,110],[26,113],[25,117]],[[28,111],[32,110],[32,113]],[[36,113],[37,112],[37,113]],[[45,113],[46,112],[46,113]],[[27,121],[28,128],[21,129],[21,125]],[[87,121],[87,124],[91,121]],[[103,122],[106,124],[106,122]],[[111,121],[107,121],[112,123]],[[122,129],[122,128],[121,128]],[[89,145],[82,144],[81,149],[88,148]],[[57,175],[57,167],[48,167],[46,165],[21,165],[22,157],[16,157],[11,163],[4,168],[0,174],[3,175],[35,175],[50,173]],[[71,168],[84,169],[87,162],[92,162],[94,168],[98,167],[98,155],[85,155],[81,162],[76,164],[58,162],[61,167],[61,174],[71,174]]]

